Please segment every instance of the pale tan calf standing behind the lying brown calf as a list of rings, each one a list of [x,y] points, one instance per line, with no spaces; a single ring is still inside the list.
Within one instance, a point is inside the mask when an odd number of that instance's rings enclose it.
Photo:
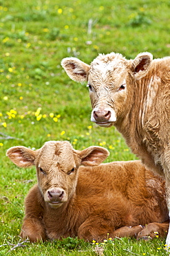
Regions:
[[[88,81],[91,120],[114,125],[142,163],[165,177],[170,212],[170,57],[152,60],[151,53],[140,53],[126,60],[109,53],[91,65],[74,57],[61,64],[72,80]]]

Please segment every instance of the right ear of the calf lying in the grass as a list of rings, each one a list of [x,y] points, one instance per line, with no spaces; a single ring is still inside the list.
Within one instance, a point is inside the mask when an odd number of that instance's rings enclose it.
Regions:
[[[109,151],[104,147],[87,147],[79,152],[81,156],[81,165],[99,165],[102,163],[107,156],[109,156]]]

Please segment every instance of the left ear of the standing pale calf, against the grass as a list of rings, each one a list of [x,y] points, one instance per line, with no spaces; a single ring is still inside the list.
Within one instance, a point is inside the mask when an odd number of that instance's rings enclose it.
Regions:
[[[81,62],[76,57],[67,57],[61,61],[61,66],[67,75],[76,82],[87,81],[89,65]]]

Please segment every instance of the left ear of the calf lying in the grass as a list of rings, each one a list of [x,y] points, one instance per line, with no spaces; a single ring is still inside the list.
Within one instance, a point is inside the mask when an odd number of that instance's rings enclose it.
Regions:
[[[23,146],[10,147],[6,152],[6,156],[8,156],[10,160],[19,167],[34,165],[36,154],[37,150],[33,151],[32,149],[28,149],[28,147]]]

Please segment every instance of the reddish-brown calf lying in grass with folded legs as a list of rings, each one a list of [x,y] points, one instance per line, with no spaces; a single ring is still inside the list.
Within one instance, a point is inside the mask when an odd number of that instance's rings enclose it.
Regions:
[[[36,166],[38,184],[25,199],[21,237],[34,242],[68,236],[102,241],[107,233],[164,235],[169,227],[162,223],[168,219],[164,181],[140,161],[100,164],[108,155],[103,147],[78,151],[67,141],[49,141],[36,151],[8,149],[17,166]]]

